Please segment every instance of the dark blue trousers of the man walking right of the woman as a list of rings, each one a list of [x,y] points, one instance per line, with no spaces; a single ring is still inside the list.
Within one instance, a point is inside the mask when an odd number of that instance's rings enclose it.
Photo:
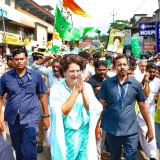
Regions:
[[[136,160],[137,145],[138,145],[138,134],[128,136],[115,136],[113,134],[106,134],[111,160],[120,160],[122,145],[125,152],[125,160]]]

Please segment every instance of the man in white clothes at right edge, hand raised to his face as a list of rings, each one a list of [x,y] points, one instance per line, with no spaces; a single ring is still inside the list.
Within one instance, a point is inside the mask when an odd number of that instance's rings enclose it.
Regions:
[[[144,87],[148,86],[150,93],[146,99],[147,109],[149,111],[149,116],[151,119],[151,124],[153,132],[155,135],[155,125],[154,125],[154,115],[155,115],[155,100],[160,92],[160,79],[156,77],[157,66],[154,63],[148,63],[147,73],[149,76],[145,76],[143,79]],[[139,141],[141,143],[142,149],[145,154],[150,157],[150,160],[157,159],[157,146],[156,139],[154,138],[150,143],[147,142],[145,134],[147,132],[146,123],[141,115],[138,113],[138,123],[139,123]]]

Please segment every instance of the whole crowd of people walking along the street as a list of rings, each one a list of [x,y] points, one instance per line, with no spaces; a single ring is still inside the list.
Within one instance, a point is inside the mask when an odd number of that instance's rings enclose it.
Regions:
[[[160,54],[137,59],[70,49],[31,57],[16,49],[5,57],[0,159],[37,160],[46,141],[52,160],[101,160],[104,153],[136,160],[138,148],[159,160]]]

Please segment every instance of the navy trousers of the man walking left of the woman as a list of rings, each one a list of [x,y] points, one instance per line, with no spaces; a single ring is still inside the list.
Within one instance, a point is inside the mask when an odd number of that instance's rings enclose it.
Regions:
[[[16,160],[37,160],[37,124],[20,124],[17,116],[14,125],[9,124],[11,141],[16,152]]]

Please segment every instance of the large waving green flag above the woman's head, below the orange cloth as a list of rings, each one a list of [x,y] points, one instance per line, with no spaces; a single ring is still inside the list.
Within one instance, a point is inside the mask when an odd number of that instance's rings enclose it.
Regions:
[[[88,32],[100,33],[100,31],[94,27],[74,28],[64,17],[58,6],[56,6],[54,25],[60,37],[66,41],[77,41]]]

